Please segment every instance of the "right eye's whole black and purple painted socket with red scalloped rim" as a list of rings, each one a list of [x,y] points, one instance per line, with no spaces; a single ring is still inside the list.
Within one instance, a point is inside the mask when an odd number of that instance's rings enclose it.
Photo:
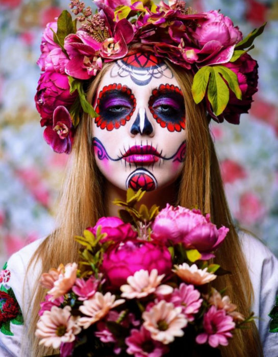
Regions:
[[[161,84],[151,93],[148,108],[157,123],[169,132],[185,129],[184,97],[179,87]]]

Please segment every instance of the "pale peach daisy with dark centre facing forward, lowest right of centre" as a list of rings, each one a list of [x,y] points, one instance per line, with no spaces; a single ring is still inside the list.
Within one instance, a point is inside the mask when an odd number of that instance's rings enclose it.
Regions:
[[[171,302],[165,300],[144,311],[142,318],[143,326],[150,332],[151,338],[165,345],[172,342],[175,337],[183,336],[183,328],[187,325],[182,308],[175,308]]]

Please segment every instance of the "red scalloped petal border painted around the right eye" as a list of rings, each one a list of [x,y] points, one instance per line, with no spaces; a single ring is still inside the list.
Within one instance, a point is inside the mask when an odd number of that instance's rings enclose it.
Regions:
[[[179,87],[174,86],[173,84],[161,84],[159,86],[158,89],[154,89],[153,92],[151,92],[151,96],[149,98],[149,105],[148,108],[151,112],[151,114],[153,114],[153,117],[156,119],[157,123],[159,123],[159,125],[161,127],[167,127],[167,129],[169,130],[169,132],[180,132],[182,129],[185,129],[185,117],[183,116],[181,118],[181,120],[179,122],[171,122],[171,121],[165,121],[162,118],[159,117],[158,114],[155,113],[155,110],[153,108],[153,103],[156,100],[156,98],[159,96],[159,94],[161,92],[163,92],[164,90],[170,90],[172,92],[176,92],[179,93],[183,96],[183,92],[181,91],[181,89]]]

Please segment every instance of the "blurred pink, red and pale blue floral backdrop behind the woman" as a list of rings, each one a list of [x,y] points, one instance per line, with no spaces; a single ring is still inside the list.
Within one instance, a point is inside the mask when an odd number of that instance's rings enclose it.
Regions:
[[[90,1],[85,1],[90,5]],[[43,141],[35,109],[36,61],[47,22],[68,0],[0,0],[0,263],[54,227],[67,155]],[[278,256],[278,1],[195,0],[198,11],[220,9],[244,35],[267,21],[251,55],[259,92],[241,124],[212,124],[226,195],[235,222]]]

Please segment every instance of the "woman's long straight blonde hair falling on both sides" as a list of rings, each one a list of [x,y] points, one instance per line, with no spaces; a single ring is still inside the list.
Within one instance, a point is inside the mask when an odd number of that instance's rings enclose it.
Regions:
[[[112,63],[113,64],[113,63]],[[88,91],[88,100],[92,102],[96,88],[105,72],[112,64],[105,65],[97,75]],[[203,213],[210,213],[217,225],[230,228],[225,243],[218,250],[215,261],[232,274],[219,277],[215,287],[226,287],[226,294],[245,316],[250,312],[252,286],[239,239],[232,223],[221,181],[217,157],[209,132],[205,109],[195,105],[191,95],[192,75],[187,71],[173,67],[179,82],[186,106],[187,147],[186,160],[180,179],[177,204],[192,208],[198,207]],[[103,200],[103,176],[96,167],[91,147],[92,119],[84,116],[77,129],[73,152],[67,168],[57,222],[59,227],[39,246],[29,264],[41,262],[41,272],[46,272],[60,263],[66,264],[78,260],[78,244],[73,237],[81,235],[84,228],[94,225],[97,219],[105,215]],[[29,311],[29,352],[34,357],[54,353],[54,350],[38,345],[34,337],[40,301],[45,292],[35,284],[34,296]],[[221,348],[223,357],[261,356],[258,330],[255,323],[250,328],[238,330],[229,346]],[[57,351],[56,351],[57,353]],[[28,354],[29,355],[29,354]]]

